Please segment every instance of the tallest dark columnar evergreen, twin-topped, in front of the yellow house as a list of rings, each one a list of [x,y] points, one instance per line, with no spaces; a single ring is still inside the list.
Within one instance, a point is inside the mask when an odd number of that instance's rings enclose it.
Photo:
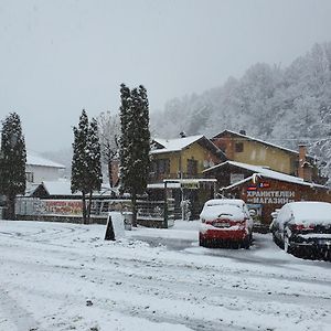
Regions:
[[[137,195],[147,188],[149,174],[149,103],[146,88],[140,85],[130,90],[121,85],[121,188],[131,195],[132,225],[137,226]]]

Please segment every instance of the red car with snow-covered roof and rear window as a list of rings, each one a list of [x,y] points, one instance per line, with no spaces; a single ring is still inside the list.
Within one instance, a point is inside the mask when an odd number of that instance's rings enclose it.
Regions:
[[[253,218],[243,200],[209,200],[203,206],[200,220],[200,246],[249,248]]]

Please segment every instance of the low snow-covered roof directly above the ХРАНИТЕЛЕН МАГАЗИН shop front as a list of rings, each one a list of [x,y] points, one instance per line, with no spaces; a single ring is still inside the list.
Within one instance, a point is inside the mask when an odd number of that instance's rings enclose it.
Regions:
[[[204,170],[203,172],[210,172],[212,170],[225,167],[226,164],[229,166],[234,166],[234,167],[238,167],[245,170],[249,170],[252,172],[254,172],[255,175],[261,175],[261,177],[266,177],[269,179],[275,179],[275,180],[279,180],[279,181],[284,181],[284,182],[289,182],[289,183],[293,183],[293,184],[299,184],[299,185],[307,185],[307,186],[313,186],[313,188],[321,188],[321,189],[328,189],[324,185],[320,185],[320,184],[316,184],[316,183],[310,183],[310,182],[305,182],[303,179],[299,178],[299,177],[293,177],[293,175],[289,175],[282,172],[278,172],[278,171],[274,171],[270,169],[267,169],[263,166],[252,166],[252,164],[247,164],[247,163],[242,163],[242,162],[236,162],[236,161],[225,161],[221,164],[214,166],[212,168],[209,168],[206,170]],[[237,186],[246,181],[248,181],[249,179],[253,179],[254,175],[246,178],[235,184],[232,184],[225,189],[232,189],[234,186]]]

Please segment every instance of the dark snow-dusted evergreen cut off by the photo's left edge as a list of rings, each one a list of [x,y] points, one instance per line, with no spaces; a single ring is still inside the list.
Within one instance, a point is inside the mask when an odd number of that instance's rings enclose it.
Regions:
[[[26,150],[21,119],[11,113],[2,122],[0,194],[7,199],[7,218],[15,218],[15,197],[25,192]]]

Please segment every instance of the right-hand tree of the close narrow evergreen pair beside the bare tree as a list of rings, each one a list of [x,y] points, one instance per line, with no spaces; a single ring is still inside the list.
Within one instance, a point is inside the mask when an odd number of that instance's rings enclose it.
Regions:
[[[88,163],[88,189],[89,189],[89,203],[87,211],[87,218],[89,221],[92,196],[93,191],[99,191],[103,183],[102,173],[102,152],[100,152],[100,141],[98,137],[98,124],[95,118],[92,119],[88,129],[87,137],[87,163]]]

